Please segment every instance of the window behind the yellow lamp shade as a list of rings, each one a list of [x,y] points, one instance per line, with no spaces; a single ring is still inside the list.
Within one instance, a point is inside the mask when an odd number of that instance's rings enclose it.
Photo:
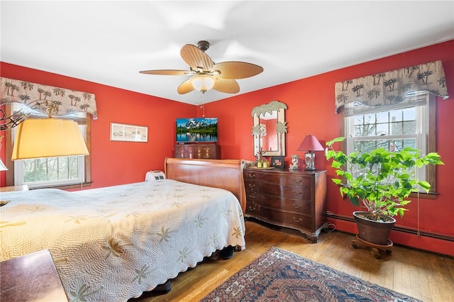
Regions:
[[[13,110],[20,110],[21,104],[13,104]],[[27,110],[24,109],[23,110]],[[40,118],[39,114],[32,114],[32,118]],[[76,121],[82,137],[89,142],[89,117],[87,113],[75,113],[70,117]],[[17,128],[11,131],[11,141],[16,135]],[[48,157],[31,160],[16,160],[13,162],[14,185],[28,185],[29,188],[43,188],[55,186],[72,186],[84,184],[89,179],[89,157]]]

